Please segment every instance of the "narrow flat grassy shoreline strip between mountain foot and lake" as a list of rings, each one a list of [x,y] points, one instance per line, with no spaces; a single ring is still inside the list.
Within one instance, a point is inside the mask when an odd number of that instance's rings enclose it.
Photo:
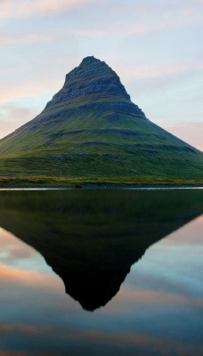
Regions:
[[[203,188],[202,177],[64,177],[0,175],[0,190],[10,189],[169,189]]]

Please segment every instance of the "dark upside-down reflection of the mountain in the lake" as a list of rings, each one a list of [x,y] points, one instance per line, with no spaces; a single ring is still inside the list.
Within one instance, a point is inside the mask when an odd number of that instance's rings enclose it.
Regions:
[[[133,263],[202,213],[202,190],[2,191],[0,225],[34,247],[85,310],[118,293]]]

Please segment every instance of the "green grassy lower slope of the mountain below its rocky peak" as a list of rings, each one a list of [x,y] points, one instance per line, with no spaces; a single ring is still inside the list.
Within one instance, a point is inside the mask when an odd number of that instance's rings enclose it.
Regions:
[[[109,125],[108,117],[88,114],[5,138],[0,173],[2,168],[3,174],[202,176],[202,153],[150,121],[122,114]]]

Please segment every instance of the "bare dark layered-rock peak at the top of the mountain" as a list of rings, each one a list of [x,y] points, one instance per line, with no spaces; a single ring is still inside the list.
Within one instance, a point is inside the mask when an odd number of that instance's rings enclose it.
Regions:
[[[127,110],[145,117],[142,110],[130,100],[130,95],[126,93],[117,73],[104,61],[93,56],[86,57],[77,68],[66,75],[63,87],[53,95],[52,101],[46,104],[45,111],[52,111],[59,104],[76,106],[74,112],[78,107],[82,109],[81,106],[87,106],[89,109],[91,105],[102,111]]]

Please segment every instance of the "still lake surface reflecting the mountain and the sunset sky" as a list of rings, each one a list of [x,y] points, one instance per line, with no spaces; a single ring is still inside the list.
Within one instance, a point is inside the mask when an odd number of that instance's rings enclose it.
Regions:
[[[203,190],[0,192],[0,355],[203,355]]]

